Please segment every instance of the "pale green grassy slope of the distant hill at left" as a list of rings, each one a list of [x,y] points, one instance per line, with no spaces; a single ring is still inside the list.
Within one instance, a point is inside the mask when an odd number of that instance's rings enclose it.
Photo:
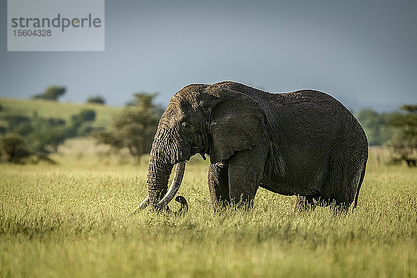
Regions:
[[[120,107],[99,104],[73,104],[68,102],[47,101],[42,99],[4,99],[0,97],[2,111],[0,115],[13,113],[14,115],[32,116],[37,111],[40,117],[58,117],[70,122],[71,116],[83,109],[96,111],[96,120],[91,126],[110,126],[115,115],[122,111]]]

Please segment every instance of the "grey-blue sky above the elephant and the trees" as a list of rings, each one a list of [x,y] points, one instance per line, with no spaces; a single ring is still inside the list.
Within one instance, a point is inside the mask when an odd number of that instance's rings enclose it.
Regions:
[[[417,1],[106,1],[104,52],[8,52],[3,20],[0,96],[56,84],[63,101],[157,91],[166,105],[190,83],[232,80],[392,110],[417,103],[416,15]]]

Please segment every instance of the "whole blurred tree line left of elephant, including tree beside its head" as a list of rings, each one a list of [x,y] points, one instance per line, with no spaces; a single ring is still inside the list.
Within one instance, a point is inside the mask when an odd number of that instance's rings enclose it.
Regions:
[[[65,88],[51,86],[42,94],[32,99],[58,101],[65,93]],[[40,117],[36,111],[33,115],[0,113],[0,160],[12,163],[51,161],[49,154],[56,153],[67,138],[92,136],[97,144],[110,145],[115,152],[128,149],[129,154],[139,158],[149,153],[156,126],[163,113],[163,108],[154,104],[157,93],[133,94],[122,113],[117,115],[107,130],[93,128],[94,109],[83,109],[71,116],[70,121],[56,117]],[[87,103],[105,104],[100,96],[89,97]],[[2,106],[0,104],[0,111]],[[4,111],[3,111],[4,112]]]

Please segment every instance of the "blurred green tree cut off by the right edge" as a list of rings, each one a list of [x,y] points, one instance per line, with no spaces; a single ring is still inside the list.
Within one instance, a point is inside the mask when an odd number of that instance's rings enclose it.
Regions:
[[[400,107],[402,114],[389,122],[397,133],[389,142],[393,161],[405,161],[409,167],[417,166],[417,105]]]

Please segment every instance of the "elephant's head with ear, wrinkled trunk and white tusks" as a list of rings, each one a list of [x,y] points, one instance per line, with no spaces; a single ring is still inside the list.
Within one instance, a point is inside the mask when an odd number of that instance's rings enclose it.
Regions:
[[[147,204],[161,208],[170,202],[191,156],[199,153],[205,159],[208,154],[211,163],[218,163],[259,142],[266,121],[263,109],[227,84],[237,83],[188,85],[172,97],[159,121],[149,156],[148,195],[136,209]]]

